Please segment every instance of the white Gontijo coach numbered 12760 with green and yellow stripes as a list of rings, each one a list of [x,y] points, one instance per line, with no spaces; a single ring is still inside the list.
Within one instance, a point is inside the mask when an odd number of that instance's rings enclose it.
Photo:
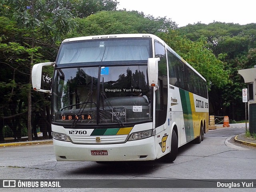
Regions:
[[[55,62],[33,66],[32,86],[51,94],[57,161],[173,162],[208,131],[206,80],[152,34],[66,39]]]

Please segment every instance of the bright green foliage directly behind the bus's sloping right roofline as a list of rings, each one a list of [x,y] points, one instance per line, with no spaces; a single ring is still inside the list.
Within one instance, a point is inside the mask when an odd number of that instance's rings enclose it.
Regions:
[[[224,70],[224,64],[206,48],[205,38],[192,42],[186,36],[180,36],[177,31],[160,33],[158,36],[174,49],[183,59],[194,67],[211,86],[222,87],[228,83],[228,71]]]

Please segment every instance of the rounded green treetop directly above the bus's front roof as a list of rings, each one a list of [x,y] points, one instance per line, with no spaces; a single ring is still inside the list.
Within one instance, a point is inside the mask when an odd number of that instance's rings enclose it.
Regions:
[[[136,11],[102,11],[87,18],[76,18],[77,27],[68,37],[104,35],[104,34],[131,34],[168,31],[177,25],[170,19],[144,16]]]

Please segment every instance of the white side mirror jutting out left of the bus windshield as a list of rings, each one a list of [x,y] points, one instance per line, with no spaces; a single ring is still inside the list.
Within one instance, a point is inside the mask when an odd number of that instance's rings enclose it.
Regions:
[[[54,62],[38,63],[32,68],[32,87],[35,91],[51,93],[51,90],[41,89],[42,67],[47,65],[54,65]]]

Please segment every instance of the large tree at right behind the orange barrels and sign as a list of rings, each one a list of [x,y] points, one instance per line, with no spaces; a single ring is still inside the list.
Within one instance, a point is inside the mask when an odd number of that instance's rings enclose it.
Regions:
[[[211,24],[194,24],[178,29],[183,35],[195,42],[206,38],[208,49],[224,62],[224,69],[229,71],[229,82],[224,87],[212,87],[209,96],[217,103],[215,114],[228,115],[231,119],[244,118],[244,106],[241,90],[244,81],[238,75],[239,69],[254,66],[253,49],[256,46],[256,24],[239,25],[233,23],[214,22]],[[252,57],[251,57],[252,56]]]

